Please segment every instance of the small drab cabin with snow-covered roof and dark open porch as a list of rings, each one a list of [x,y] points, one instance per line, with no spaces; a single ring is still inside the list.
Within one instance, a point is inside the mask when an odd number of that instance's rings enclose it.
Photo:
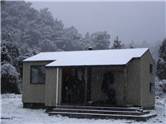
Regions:
[[[154,109],[148,48],[41,52],[23,62],[24,107]]]

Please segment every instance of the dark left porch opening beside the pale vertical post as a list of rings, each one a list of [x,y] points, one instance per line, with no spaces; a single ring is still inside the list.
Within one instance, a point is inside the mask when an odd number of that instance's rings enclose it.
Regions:
[[[85,68],[65,67],[62,70],[62,105],[84,105]]]

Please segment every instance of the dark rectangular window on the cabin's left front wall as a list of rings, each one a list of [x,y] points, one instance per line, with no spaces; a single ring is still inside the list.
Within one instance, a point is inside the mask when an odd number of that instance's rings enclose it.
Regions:
[[[41,65],[31,66],[31,84],[45,83],[45,67]]]

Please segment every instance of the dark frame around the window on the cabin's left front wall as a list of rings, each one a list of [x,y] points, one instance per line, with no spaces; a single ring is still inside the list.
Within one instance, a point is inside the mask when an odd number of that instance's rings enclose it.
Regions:
[[[44,82],[35,82],[35,83],[33,83],[32,82],[32,68],[36,68],[36,67],[44,67],[44,69],[45,69],[45,66],[44,65],[31,65],[30,66],[30,84],[32,84],[32,85],[44,85],[45,84],[45,81],[46,81],[46,74],[44,75]],[[45,72],[46,72],[46,70],[45,70]]]

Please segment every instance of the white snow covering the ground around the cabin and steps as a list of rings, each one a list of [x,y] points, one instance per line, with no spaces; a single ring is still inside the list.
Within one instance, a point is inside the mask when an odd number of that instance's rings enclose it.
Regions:
[[[3,94],[1,97],[2,124],[166,124],[166,95],[157,97],[157,117],[146,122],[125,119],[75,119],[62,116],[48,116],[44,109],[25,109],[21,95]]]

